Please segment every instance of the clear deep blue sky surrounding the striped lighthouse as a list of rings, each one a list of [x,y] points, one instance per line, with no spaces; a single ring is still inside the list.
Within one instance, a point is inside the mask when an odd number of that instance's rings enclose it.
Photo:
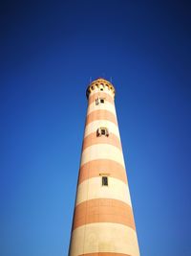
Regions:
[[[112,77],[141,256],[190,256],[189,1],[3,2],[0,255],[67,255],[85,90]]]

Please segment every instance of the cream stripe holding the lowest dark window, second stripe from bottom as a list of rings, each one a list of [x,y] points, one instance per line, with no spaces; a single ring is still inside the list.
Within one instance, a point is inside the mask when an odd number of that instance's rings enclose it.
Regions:
[[[102,186],[101,176],[84,180],[78,185],[76,195],[76,205],[86,200],[109,198],[121,200],[132,206],[128,185],[111,176],[108,176],[108,186]]]

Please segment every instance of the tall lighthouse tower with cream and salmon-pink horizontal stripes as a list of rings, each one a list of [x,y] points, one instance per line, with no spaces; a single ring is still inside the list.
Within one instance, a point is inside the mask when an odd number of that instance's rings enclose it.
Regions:
[[[139,256],[117,126],[115,87],[97,79],[88,109],[69,256]]]

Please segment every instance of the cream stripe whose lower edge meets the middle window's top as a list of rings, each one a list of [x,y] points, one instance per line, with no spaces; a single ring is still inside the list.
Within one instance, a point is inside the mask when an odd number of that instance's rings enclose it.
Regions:
[[[97,128],[108,128],[109,132],[114,133],[120,140],[117,125],[108,120],[97,120],[88,124],[85,128],[84,138],[88,136],[90,133],[96,132]]]

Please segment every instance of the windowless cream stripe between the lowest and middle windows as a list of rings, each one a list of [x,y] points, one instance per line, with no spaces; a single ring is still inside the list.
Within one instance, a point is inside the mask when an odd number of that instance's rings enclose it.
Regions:
[[[81,166],[97,159],[114,160],[125,168],[122,151],[113,145],[96,144],[86,148],[81,155]]]

